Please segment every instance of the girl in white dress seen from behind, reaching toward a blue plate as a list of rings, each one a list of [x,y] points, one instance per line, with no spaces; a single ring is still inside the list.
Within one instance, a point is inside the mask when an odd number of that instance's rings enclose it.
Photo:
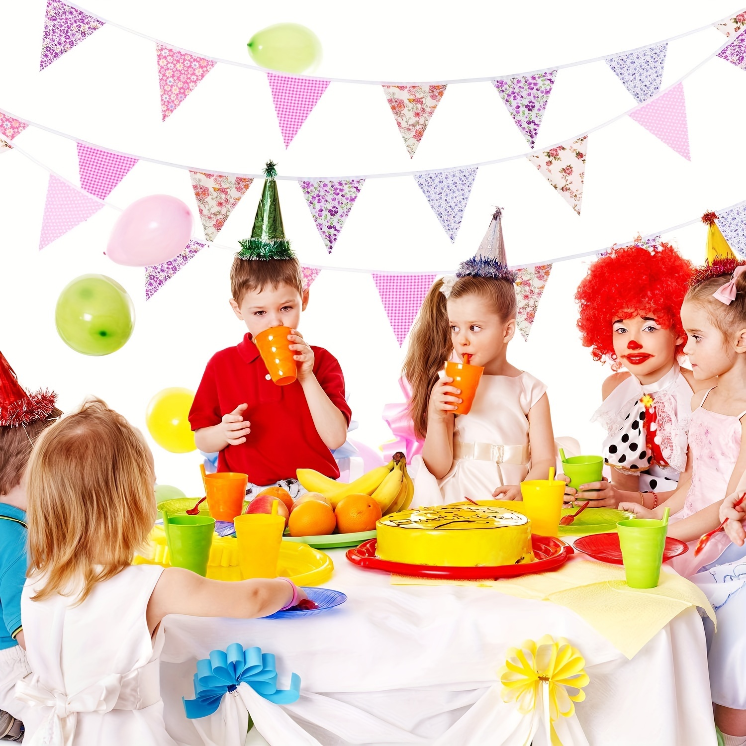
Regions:
[[[158,656],[167,614],[259,617],[297,603],[284,578],[222,583],[130,564],[156,518],[153,457],[101,401],[46,430],[28,471],[29,573],[21,613],[40,710],[27,746],[175,746]]]

